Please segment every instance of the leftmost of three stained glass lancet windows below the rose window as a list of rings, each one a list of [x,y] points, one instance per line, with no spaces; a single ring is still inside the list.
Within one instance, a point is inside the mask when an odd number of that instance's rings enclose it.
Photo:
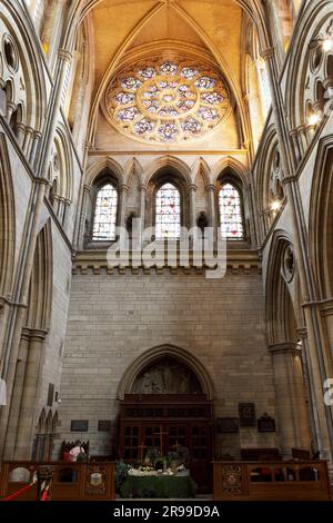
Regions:
[[[115,239],[118,193],[112,184],[104,185],[97,195],[93,235],[95,241]]]

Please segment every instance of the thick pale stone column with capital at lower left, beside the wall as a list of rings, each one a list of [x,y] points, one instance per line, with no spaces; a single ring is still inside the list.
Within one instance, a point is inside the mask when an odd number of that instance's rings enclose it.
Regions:
[[[18,436],[14,448],[16,460],[30,458],[36,430],[36,407],[46,334],[44,330],[30,330],[30,343],[18,423]]]

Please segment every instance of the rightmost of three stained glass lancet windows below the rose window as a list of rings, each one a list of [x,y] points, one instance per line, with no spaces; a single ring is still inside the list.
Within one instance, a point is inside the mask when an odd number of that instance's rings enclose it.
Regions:
[[[226,182],[219,194],[221,235],[226,239],[243,239],[242,204],[239,190]]]

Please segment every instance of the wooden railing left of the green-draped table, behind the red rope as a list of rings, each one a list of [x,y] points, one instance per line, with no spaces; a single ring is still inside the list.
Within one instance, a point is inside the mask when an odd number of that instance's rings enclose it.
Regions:
[[[0,471],[0,500],[31,483],[40,470],[52,471],[50,497],[52,501],[114,500],[114,463],[103,462],[3,462]],[[37,484],[16,501],[36,501]]]

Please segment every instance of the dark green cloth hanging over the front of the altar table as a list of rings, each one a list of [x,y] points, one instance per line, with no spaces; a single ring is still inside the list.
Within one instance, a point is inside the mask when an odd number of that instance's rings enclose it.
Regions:
[[[120,487],[121,497],[194,497],[196,483],[191,476],[129,476]]]

